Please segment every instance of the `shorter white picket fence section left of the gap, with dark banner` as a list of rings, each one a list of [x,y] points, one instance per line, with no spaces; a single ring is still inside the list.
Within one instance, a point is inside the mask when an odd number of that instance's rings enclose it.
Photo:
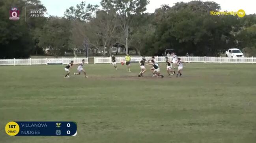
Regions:
[[[28,59],[0,59],[0,65],[48,65],[51,61],[60,61],[68,64],[71,60],[75,63],[82,62],[88,64],[88,58],[28,58]]]

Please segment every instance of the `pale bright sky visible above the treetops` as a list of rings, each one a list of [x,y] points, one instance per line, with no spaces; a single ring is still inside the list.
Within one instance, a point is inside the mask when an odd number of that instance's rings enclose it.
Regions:
[[[47,13],[54,16],[63,16],[64,12],[70,6],[80,4],[80,2],[86,1],[86,4],[100,5],[101,0],[41,0],[41,3],[47,8]],[[161,7],[163,4],[169,6],[174,5],[176,2],[189,2],[191,0],[149,0],[147,5],[148,13],[154,13],[155,9]],[[238,11],[243,9],[246,14],[256,13],[256,0],[201,0],[214,1],[220,4],[221,11]]]

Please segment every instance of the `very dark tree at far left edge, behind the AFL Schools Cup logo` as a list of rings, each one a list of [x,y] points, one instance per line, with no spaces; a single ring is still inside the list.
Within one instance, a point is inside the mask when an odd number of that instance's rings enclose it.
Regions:
[[[9,20],[10,5],[20,11],[21,20]],[[0,58],[28,58],[34,48],[32,34],[24,22],[24,1],[0,1]]]

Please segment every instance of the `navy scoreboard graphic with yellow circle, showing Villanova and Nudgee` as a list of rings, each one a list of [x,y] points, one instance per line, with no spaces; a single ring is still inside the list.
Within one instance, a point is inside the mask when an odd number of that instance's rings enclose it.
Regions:
[[[5,130],[9,136],[76,136],[77,123],[11,121],[6,124]]]

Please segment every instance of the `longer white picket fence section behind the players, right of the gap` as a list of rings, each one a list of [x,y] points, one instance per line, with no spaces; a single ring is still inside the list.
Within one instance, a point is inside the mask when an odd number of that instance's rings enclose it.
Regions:
[[[141,56],[131,57],[131,61],[138,61]],[[169,57],[172,59],[172,57]],[[193,56],[186,57],[181,56],[182,61],[187,63],[256,63],[256,57],[244,57],[244,58],[227,58],[227,57],[208,57],[208,56]],[[150,60],[151,57],[146,57]],[[159,63],[165,62],[164,56],[155,56],[155,60]],[[125,61],[125,57],[116,57],[116,62],[121,63]],[[96,63],[111,63],[111,57],[94,57],[94,64]]]

